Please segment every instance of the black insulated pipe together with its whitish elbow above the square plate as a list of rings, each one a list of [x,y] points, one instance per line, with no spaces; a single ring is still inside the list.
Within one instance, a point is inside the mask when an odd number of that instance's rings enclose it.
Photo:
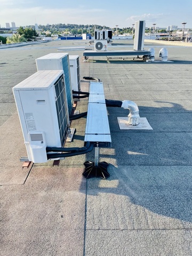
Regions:
[[[139,124],[139,108],[137,104],[131,100],[106,100],[107,107],[121,107],[124,109],[129,109],[130,113],[128,115],[128,124],[129,125],[138,125]]]

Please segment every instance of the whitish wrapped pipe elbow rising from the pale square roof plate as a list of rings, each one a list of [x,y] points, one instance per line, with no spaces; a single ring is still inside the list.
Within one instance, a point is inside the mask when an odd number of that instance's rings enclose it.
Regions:
[[[137,104],[131,100],[123,100],[122,108],[129,109],[130,113],[128,115],[128,124],[130,125],[138,125],[139,124],[139,108]]]

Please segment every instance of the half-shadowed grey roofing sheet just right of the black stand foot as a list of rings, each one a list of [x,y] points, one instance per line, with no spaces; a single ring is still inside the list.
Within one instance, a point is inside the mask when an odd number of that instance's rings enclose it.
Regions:
[[[110,165],[108,171],[108,180],[87,183],[87,230],[183,229],[191,223],[190,166]]]

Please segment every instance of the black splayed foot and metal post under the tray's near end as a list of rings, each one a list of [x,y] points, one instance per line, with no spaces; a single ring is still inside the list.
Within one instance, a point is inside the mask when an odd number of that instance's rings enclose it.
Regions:
[[[107,171],[108,163],[106,162],[100,162],[99,163],[99,147],[95,147],[95,162],[86,161],[84,163],[85,165],[85,171],[83,172],[83,176],[86,179],[90,178],[101,178],[101,179],[107,179],[109,178],[109,173]]]

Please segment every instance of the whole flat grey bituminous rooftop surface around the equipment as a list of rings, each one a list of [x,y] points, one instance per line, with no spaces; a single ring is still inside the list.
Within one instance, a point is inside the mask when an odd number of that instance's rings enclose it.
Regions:
[[[54,41],[0,49],[0,255],[192,255],[192,48],[167,45],[173,62],[90,57],[86,41]],[[103,82],[105,97],[137,103],[153,130],[119,130],[117,117],[129,110],[107,108],[112,147],[100,149],[109,163],[107,180],[85,179],[85,161],[94,151],[52,166],[19,161],[26,149],[12,87],[36,69],[35,59],[73,47],[84,76]],[[154,47],[155,59],[165,45]],[[132,50],[132,40],[116,40],[111,50]],[[63,51],[65,52],[65,51]],[[80,113],[87,99],[77,103]],[[86,118],[68,147],[84,145]]]

